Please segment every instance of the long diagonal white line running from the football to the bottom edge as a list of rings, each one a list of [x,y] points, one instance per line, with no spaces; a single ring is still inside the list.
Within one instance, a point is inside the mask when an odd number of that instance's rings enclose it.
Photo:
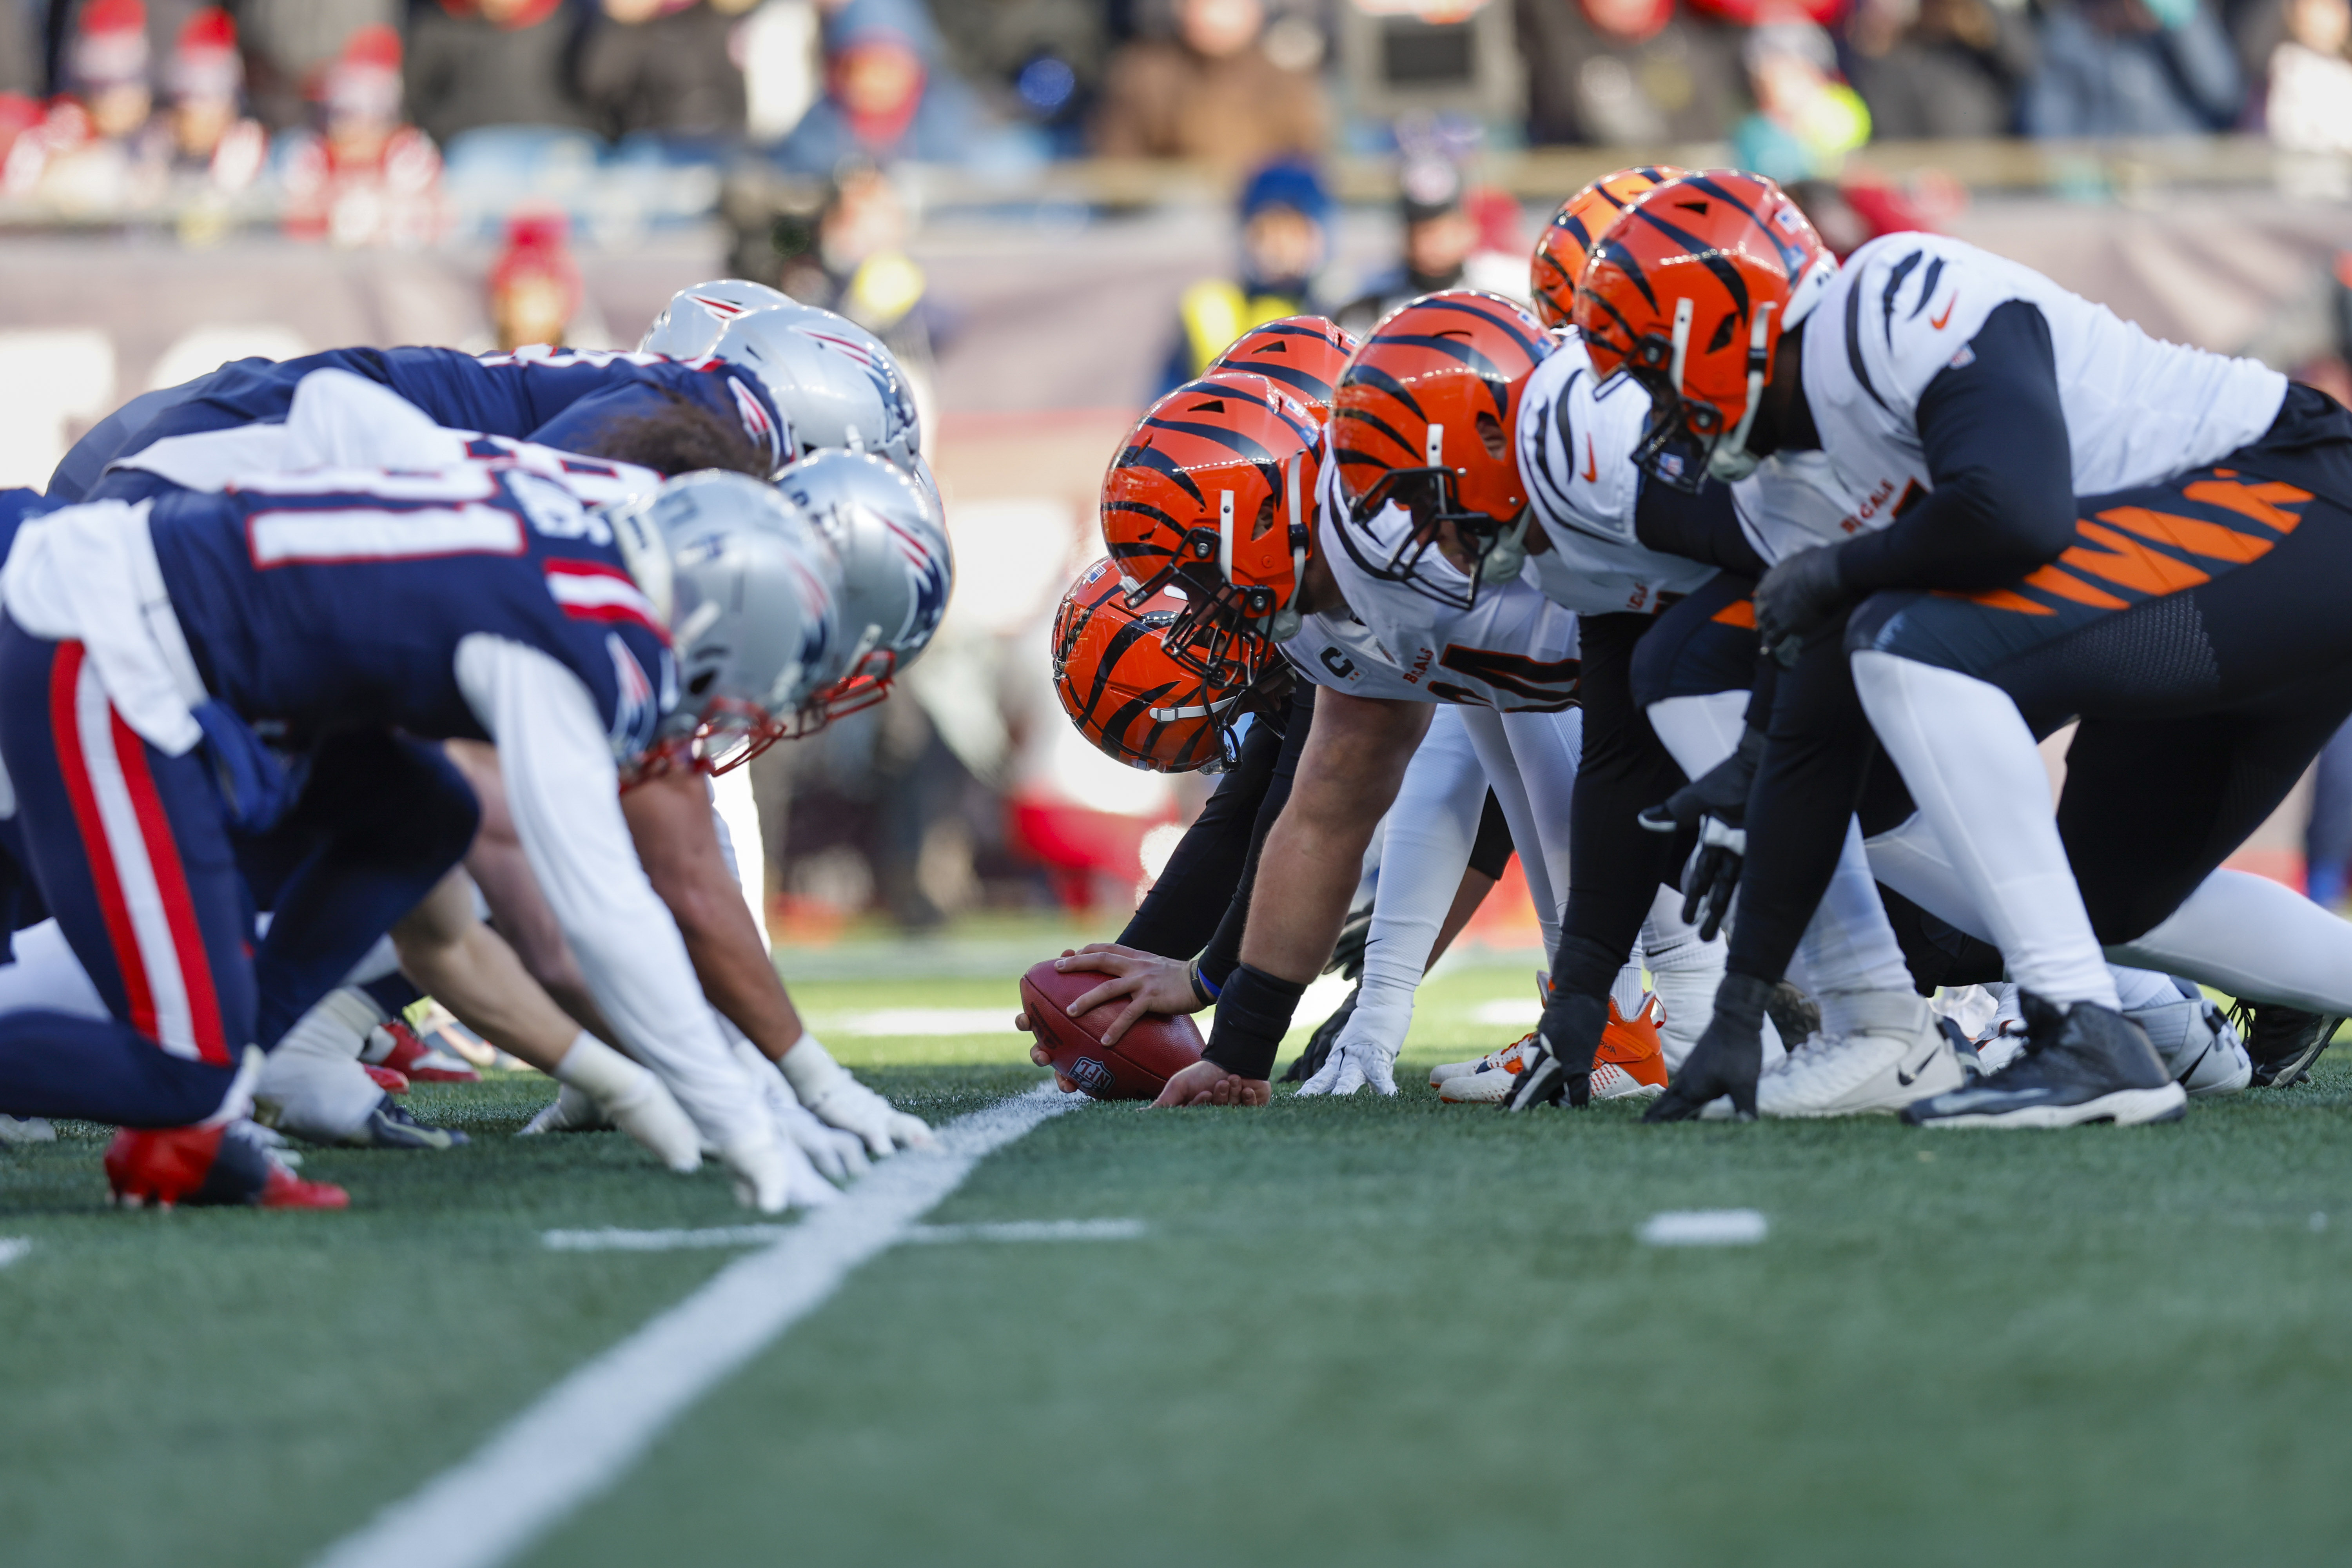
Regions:
[[[720,1380],[816,1312],[851,1269],[903,1241],[983,1157],[1080,1103],[1040,1084],[938,1128],[936,1150],[884,1159],[840,1204],[729,1262],[456,1467],[327,1547],[315,1566],[492,1568],[524,1552],[635,1465]]]

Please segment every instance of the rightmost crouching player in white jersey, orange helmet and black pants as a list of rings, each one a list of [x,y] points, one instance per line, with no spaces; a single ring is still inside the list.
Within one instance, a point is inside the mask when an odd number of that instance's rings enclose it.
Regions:
[[[1851,536],[1788,550],[1757,588],[1790,668],[1729,973],[1656,1114],[1755,1105],[1764,997],[1837,865],[1872,729],[2027,997],[2027,1048],[1905,1119],[2178,1117],[2103,945],[2343,1011],[2343,922],[2216,865],[2352,712],[2352,416],[1955,240],[1891,235],[1839,270],[1771,181],[1736,174],[1630,207],[1576,324],[1595,369],[1653,397],[1651,477],[1818,454]],[[2072,717],[2053,820],[2034,736]]]

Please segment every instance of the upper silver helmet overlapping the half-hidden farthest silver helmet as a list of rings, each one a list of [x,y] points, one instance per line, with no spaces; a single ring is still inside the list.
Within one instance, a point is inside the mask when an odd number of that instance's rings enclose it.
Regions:
[[[922,454],[898,360],[844,315],[814,306],[755,310],[720,331],[710,357],[760,378],[790,425],[788,458],[844,447],[910,468]]]

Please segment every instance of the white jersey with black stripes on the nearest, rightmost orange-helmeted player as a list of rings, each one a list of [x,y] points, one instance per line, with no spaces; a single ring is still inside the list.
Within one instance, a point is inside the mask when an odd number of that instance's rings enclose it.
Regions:
[[[1804,324],[1804,395],[1842,491],[1839,534],[1884,529],[1933,489],[1919,397],[1994,308],[2049,322],[2074,494],[2103,496],[2204,468],[2277,418],[2286,376],[2147,336],[2032,268],[1943,235],[1884,235],[1853,252]]]

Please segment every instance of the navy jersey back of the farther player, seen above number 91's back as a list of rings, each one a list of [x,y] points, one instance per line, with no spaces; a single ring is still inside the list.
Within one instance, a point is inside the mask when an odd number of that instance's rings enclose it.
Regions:
[[[475,357],[456,348],[329,348],[301,360],[223,364],[198,393],[127,435],[106,461],[127,458],[167,435],[282,421],[294,404],[294,388],[315,369],[346,369],[388,386],[445,430],[508,435],[562,451],[590,444],[609,418],[659,411],[670,395],[739,421],[753,444],[776,463],[786,451],[786,423],[767,388],[757,376],[717,360],[572,350]],[[89,494],[99,498],[108,491],[92,487]]]

